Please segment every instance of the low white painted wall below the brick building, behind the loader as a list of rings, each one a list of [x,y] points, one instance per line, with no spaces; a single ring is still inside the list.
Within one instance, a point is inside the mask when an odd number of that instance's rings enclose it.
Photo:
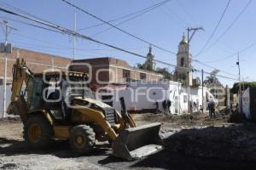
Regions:
[[[127,110],[141,111],[144,109],[156,108],[155,103],[159,103],[159,110],[163,111],[162,102],[170,99],[172,102],[170,111],[176,114],[182,114],[188,111],[188,93],[187,89],[181,87],[179,82],[161,81],[161,82],[129,82],[128,88],[125,90],[113,91],[113,107],[121,111],[119,98],[125,98]],[[208,95],[207,95],[208,94]],[[204,108],[207,108],[206,96],[213,95],[207,88],[204,88]],[[190,99],[195,101],[197,107],[195,111],[199,111],[202,102],[201,87],[191,88]]]

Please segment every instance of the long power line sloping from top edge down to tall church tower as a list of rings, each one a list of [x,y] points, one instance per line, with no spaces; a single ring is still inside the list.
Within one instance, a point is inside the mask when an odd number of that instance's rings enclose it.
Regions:
[[[123,30],[123,29],[120,29],[119,27],[114,26],[113,24],[110,24],[108,21],[102,20],[101,18],[97,17],[96,15],[91,14],[91,13],[89,13],[88,11],[85,11],[83,8],[79,8],[78,6],[74,5],[73,3],[69,3],[67,0],[61,0],[61,1],[64,2],[64,3],[67,3],[68,5],[72,6],[73,8],[77,8],[79,11],[83,12],[84,14],[90,15],[91,17],[95,18],[96,20],[100,20],[100,21],[106,23],[108,26],[112,26],[113,28],[115,28],[115,29],[117,29],[117,30],[119,30],[119,31],[121,31],[121,32],[123,32],[123,33],[125,33],[126,35],[128,35],[128,36],[130,36],[130,37],[134,37],[134,38],[136,38],[137,40],[139,40],[139,41],[141,41],[141,42],[148,43],[148,45],[152,45],[152,46],[154,46],[154,48],[159,48],[160,50],[166,51],[167,53],[176,54],[176,53],[174,53],[174,52],[172,52],[172,51],[170,51],[170,50],[168,50],[168,49],[166,49],[166,48],[161,48],[161,47],[159,47],[158,45],[155,45],[155,44],[152,43],[152,42],[148,42],[148,41],[144,40],[144,39],[141,38],[141,37],[137,37],[137,36],[131,34],[131,33],[128,32],[128,31],[125,31],[125,30]],[[169,1],[170,1],[170,0],[166,0],[166,2],[169,2]]]

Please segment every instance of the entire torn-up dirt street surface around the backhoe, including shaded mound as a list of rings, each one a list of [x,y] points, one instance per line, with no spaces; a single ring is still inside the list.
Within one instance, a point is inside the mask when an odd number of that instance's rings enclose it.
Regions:
[[[61,140],[47,150],[32,150],[23,141],[20,118],[2,118],[0,169],[253,169],[256,165],[256,126],[237,122],[231,113],[219,112],[214,119],[207,113],[132,117],[138,125],[162,123],[164,150],[137,161],[110,156],[108,142],[97,142],[93,153],[84,156],[74,154]]]

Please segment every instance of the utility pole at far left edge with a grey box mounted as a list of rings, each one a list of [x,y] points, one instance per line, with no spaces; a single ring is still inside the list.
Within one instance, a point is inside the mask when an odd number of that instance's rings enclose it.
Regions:
[[[2,25],[4,26],[3,31],[4,31],[4,35],[5,35],[5,42],[1,42],[0,45],[0,52],[4,53],[4,76],[3,76],[3,117],[6,116],[6,84],[7,84],[7,54],[11,54],[12,53],[12,47],[11,44],[8,43],[8,36],[9,36],[9,32],[11,30],[17,30],[12,26],[9,26],[8,21],[3,20],[0,21],[2,23]]]

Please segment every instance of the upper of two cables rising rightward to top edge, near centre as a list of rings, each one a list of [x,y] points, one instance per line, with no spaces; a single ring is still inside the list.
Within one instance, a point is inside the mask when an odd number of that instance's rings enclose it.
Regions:
[[[165,3],[168,3],[168,1],[163,1],[163,2],[161,2],[161,3],[155,3],[154,5],[151,5],[151,6],[148,7],[148,8],[143,8],[143,9],[138,10],[137,12],[133,12],[133,13],[131,13],[131,14],[125,14],[125,15],[123,15],[123,16],[120,16],[120,17],[116,18],[116,19],[108,20],[108,22],[114,22],[114,21],[117,21],[117,20],[122,20],[122,19],[125,19],[125,18],[127,18],[127,17],[130,17],[130,16],[132,16],[132,15],[134,15],[134,14],[138,14],[138,16],[140,16],[140,15],[142,15],[142,14],[145,14],[144,11],[147,11],[147,12],[148,12],[148,11],[153,10],[154,8],[157,8],[157,7],[159,7],[159,6],[161,6],[161,5],[165,4]],[[137,18],[137,17],[135,17],[135,18]],[[132,19],[133,19],[133,18],[132,18]],[[127,20],[127,21],[128,21],[128,20]],[[84,27],[84,28],[80,28],[80,29],[77,30],[77,31],[87,30],[87,29],[94,28],[94,27],[96,27],[96,26],[102,26],[102,25],[105,25],[105,24],[106,24],[105,22],[102,22],[102,23],[96,24],[96,25],[94,25],[94,26],[87,26],[87,27]]]

